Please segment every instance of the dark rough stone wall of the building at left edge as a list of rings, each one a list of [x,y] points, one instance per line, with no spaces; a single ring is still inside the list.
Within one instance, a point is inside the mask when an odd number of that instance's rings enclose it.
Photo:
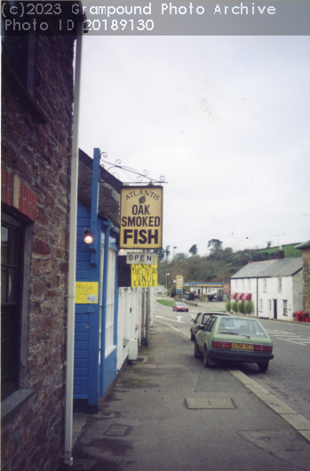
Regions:
[[[36,196],[32,218],[3,199],[30,244],[20,390],[3,407],[3,471],[53,470],[63,455],[73,56],[73,36],[36,36],[32,97],[3,68],[2,167]]]

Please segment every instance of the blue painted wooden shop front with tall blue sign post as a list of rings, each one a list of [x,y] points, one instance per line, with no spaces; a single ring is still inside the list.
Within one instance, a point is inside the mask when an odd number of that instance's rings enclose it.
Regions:
[[[99,149],[95,149],[99,150]],[[98,406],[116,376],[118,229],[99,218],[99,154],[93,160],[91,211],[77,209],[76,282],[99,283],[96,303],[76,304],[74,399]],[[97,194],[96,194],[97,191]],[[86,229],[92,243],[84,242]]]

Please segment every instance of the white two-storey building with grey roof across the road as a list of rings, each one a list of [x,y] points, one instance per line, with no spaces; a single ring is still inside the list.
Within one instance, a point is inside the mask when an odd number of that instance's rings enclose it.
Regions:
[[[231,277],[231,299],[249,299],[254,315],[293,321],[303,309],[302,258],[252,262]]]

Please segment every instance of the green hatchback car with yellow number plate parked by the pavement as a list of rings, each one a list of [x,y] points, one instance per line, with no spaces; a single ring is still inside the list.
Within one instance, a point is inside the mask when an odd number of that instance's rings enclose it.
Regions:
[[[274,358],[273,342],[258,319],[212,315],[198,326],[194,355],[203,356],[207,368],[229,361],[258,363],[259,371],[267,371]]]

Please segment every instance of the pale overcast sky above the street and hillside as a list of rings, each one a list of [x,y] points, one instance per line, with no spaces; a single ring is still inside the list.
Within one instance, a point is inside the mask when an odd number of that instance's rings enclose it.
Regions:
[[[165,177],[171,251],[305,242],[309,84],[309,36],[84,37],[79,147]]]

